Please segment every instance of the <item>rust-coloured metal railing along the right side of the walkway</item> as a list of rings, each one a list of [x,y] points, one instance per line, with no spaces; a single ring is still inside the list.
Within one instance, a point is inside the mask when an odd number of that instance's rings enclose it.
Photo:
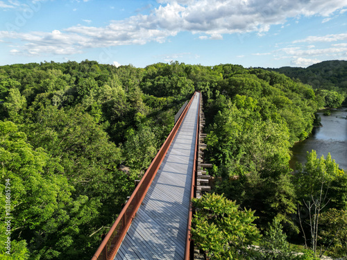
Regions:
[[[194,163],[192,173],[192,186],[190,187],[190,201],[189,201],[189,214],[187,223],[187,234],[185,240],[185,260],[194,259],[194,241],[192,240],[191,228],[192,228],[192,217],[193,207],[192,198],[196,197],[196,157],[198,155],[198,133],[200,130],[200,106],[201,106],[201,92],[199,92],[198,101],[198,120],[196,124],[196,139],[195,139],[195,150],[194,150]]]

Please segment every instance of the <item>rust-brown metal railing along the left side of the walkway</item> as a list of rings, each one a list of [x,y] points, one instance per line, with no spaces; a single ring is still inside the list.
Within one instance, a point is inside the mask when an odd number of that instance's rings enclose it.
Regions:
[[[169,136],[164,141],[164,144],[160,148],[158,154],[151,162],[151,165],[147,169],[146,173],[144,173],[141,181],[139,182],[139,184],[137,184],[137,187],[133,191],[133,194],[130,196],[128,202],[126,202],[126,205],[121,210],[121,213],[110,228],[108,234],[105,236],[105,239],[103,239],[98,250],[96,250],[94,256],[92,257],[92,260],[110,260],[115,258],[117,250],[121,245],[121,241],[123,241],[126,232],[128,232],[130,224],[133,221],[133,218],[135,218],[137,209],[139,209],[142,200],[144,200],[144,196],[146,196],[146,193],[151,186],[156,173],[158,172],[159,166],[162,163],[167,150],[169,150],[169,147],[174,140],[174,137],[176,136],[178,128],[180,128],[180,125],[185,118],[185,114],[187,114],[187,111],[189,110],[189,107],[194,100],[194,96],[195,93],[190,99],[188,105],[185,107],[185,110],[181,114],[176,125],[171,130]]]

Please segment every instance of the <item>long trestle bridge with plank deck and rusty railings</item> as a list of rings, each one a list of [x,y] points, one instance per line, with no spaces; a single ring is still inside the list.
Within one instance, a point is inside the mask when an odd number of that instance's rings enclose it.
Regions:
[[[204,124],[195,92],[92,260],[194,259],[191,199],[210,190]]]

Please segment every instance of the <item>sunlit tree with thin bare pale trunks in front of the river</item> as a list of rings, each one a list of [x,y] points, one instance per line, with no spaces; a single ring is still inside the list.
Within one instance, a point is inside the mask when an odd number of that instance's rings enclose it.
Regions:
[[[324,216],[333,215],[332,211],[328,210],[331,207],[346,209],[346,174],[339,169],[339,165],[331,158],[330,153],[326,158],[323,156],[317,158],[316,152],[312,150],[311,153],[307,152],[305,166],[298,167],[295,179],[298,202],[305,205],[303,209],[307,211],[306,216],[301,217],[302,231],[306,240],[310,241],[314,254],[321,256],[319,248],[322,242],[319,234],[325,235],[323,239],[325,245],[327,243],[325,239],[329,237],[331,239],[332,236],[326,229],[324,231],[324,227],[322,231],[322,221],[325,221],[325,228],[328,224]],[[338,184],[339,182],[341,184]],[[345,214],[344,211],[341,212]]]

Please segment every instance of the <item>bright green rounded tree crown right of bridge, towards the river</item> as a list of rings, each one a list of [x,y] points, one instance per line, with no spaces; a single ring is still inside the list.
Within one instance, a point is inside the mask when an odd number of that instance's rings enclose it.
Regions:
[[[253,98],[235,98],[236,105],[226,103],[210,128],[206,144],[208,153],[213,155],[212,161],[232,167],[243,166],[245,172],[269,168],[274,157],[287,164],[289,133],[286,125],[262,121]]]

